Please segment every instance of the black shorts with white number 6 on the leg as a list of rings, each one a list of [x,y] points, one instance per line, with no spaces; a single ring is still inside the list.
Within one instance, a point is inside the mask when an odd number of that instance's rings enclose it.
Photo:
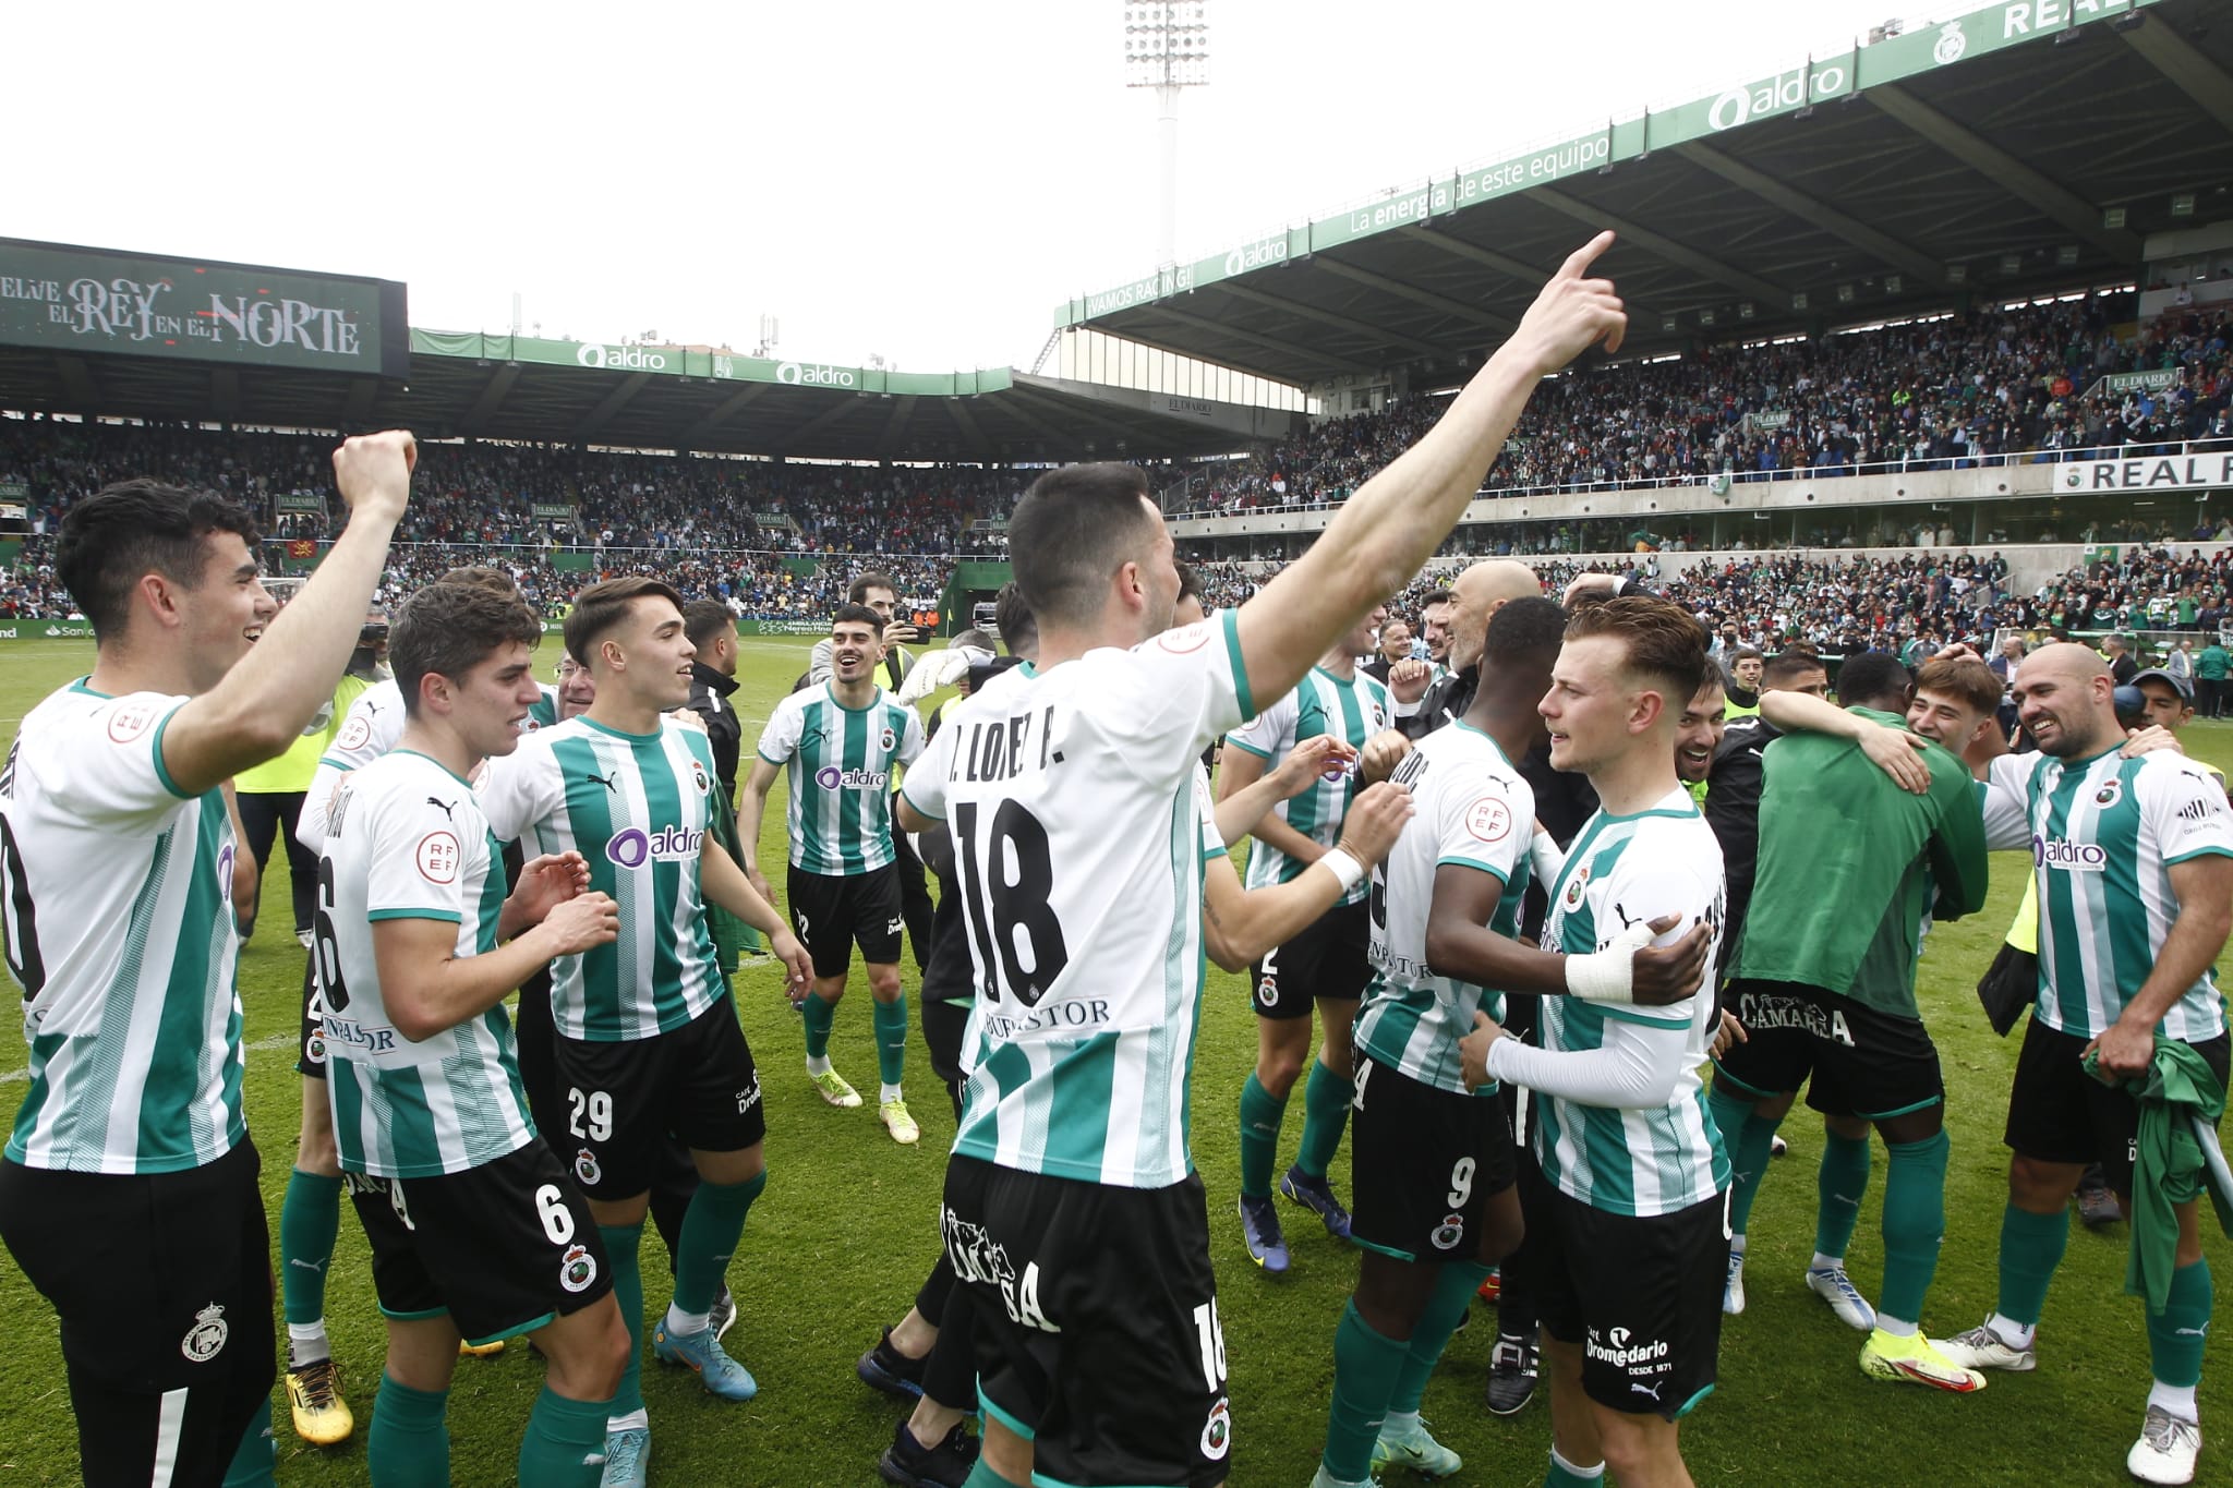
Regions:
[[[447,1312],[467,1343],[496,1343],[612,1292],[590,1205],[543,1138],[462,1173],[346,1180],[391,1318]]]

